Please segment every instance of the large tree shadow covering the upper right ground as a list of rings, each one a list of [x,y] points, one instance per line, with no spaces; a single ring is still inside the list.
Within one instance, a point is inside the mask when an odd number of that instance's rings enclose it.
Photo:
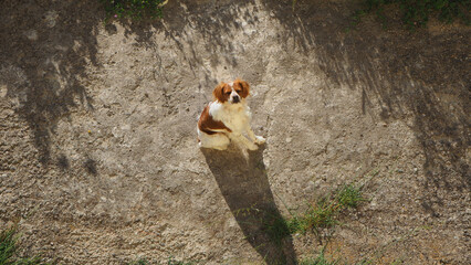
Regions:
[[[328,82],[362,89],[364,115],[415,131],[426,158],[426,211],[435,215],[431,205],[443,205],[438,190],[469,190],[469,31],[408,32],[393,18],[388,30],[369,21],[348,32],[355,1],[297,1],[294,11],[291,1],[262,4],[282,24],[286,49],[314,51]]]

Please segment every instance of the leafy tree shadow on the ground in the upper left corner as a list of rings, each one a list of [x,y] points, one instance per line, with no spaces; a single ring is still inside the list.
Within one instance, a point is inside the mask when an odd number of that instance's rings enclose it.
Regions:
[[[96,28],[103,15],[92,0],[0,3],[0,86],[31,128],[44,167],[70,167],[65,155],[52,155],[57,121],[76,109],[93,110],[83,81],[86,67],[98,64]],[[83,160],[88,171],[94,168],[92,158]]]

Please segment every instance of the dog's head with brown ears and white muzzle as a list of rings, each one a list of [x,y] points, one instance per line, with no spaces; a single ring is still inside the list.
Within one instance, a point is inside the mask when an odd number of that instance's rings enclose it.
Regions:
[[[248,97],[249,93],[250,93],[249,83],[237,78],[234,82],[231,82],[231,83],[222,82],[221,84],[219,84],[212,92],[212,95],[220,103],[228,102],[230,104],[238,104],[242,99]]]

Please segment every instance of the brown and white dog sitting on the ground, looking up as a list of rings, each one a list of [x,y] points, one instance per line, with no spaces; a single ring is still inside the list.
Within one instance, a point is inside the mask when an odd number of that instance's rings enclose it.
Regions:
[[[265,142],[265,139],[255,136],[250,127],[251,113],[245,102],[249,94],[249,84],[239,78],[231,83],[221,83],[214,88],[214,100],[205,107],[198,120],[200,147],[226,150],[230,141],[234,140],[250,150],[257,150],[255,144]],[[247,134],[250,140],[243,134]]]

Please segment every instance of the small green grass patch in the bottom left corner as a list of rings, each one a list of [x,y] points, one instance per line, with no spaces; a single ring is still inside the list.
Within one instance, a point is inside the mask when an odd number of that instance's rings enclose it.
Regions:
[[[18,241],[20,234],[17,226],[12,226],[0,232],[0,265],[33,265],[45,264],[41,262],[40,256],[19,257]]]

